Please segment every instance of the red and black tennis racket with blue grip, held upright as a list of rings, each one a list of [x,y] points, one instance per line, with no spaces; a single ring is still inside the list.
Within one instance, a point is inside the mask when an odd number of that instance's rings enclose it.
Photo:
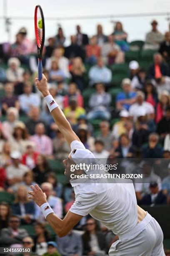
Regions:
[[[42,49],[44,47],[45,38],[45,26],[44,26],[44,15],[40,5],[35,7],[35,38],[37,42],[37,52],[38,52],[38,80],[42,79]]]

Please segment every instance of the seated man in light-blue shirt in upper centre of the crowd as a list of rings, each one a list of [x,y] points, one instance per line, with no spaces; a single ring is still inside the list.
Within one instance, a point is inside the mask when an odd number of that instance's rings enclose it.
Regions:
[[[109,84],[112,80],[112,72],[105,67],[103,59],[100,57],[97,59],[97,65],[93,66],[89,70],[90,84],[105,83]]]

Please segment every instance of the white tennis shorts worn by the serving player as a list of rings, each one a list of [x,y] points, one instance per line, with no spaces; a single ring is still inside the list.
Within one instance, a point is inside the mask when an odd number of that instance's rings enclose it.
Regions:
[[[160,225],[147,212],[133,230],[112,244],[109,256],[165,256]]]

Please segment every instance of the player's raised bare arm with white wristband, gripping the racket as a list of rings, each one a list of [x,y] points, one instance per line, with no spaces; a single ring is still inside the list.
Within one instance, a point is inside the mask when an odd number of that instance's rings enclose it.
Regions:
[[[55,102],[52,95],[50,95],[50,92],[47,88],[47,79],[45,75],[42,75],[42,79],[38,81],[38,78],[35,79],[36,85],[38,90],[42,93],[42,95],[45,98],[45,101],[47,103],[47,106],[52,114],[52,117],[55,120],[55,123],[58,126],[58,129],[65,137],[67,143],[70,145],[72,141],[80,141],[80,139],[77,137],[74,131],[72,131],[72,128],[70,126],[70,123],[65,118],[64,113],[60,109],[59,105]]]

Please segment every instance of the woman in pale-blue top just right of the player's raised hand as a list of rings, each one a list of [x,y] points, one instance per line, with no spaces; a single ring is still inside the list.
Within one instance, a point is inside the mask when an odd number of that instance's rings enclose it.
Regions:
[[[56,83],[63,81],[67,78],[65,73],[61,69],[59,69],[58,61],[56,58],[52,59],[49,75],[50,75],[50,81],[56,82]]]

